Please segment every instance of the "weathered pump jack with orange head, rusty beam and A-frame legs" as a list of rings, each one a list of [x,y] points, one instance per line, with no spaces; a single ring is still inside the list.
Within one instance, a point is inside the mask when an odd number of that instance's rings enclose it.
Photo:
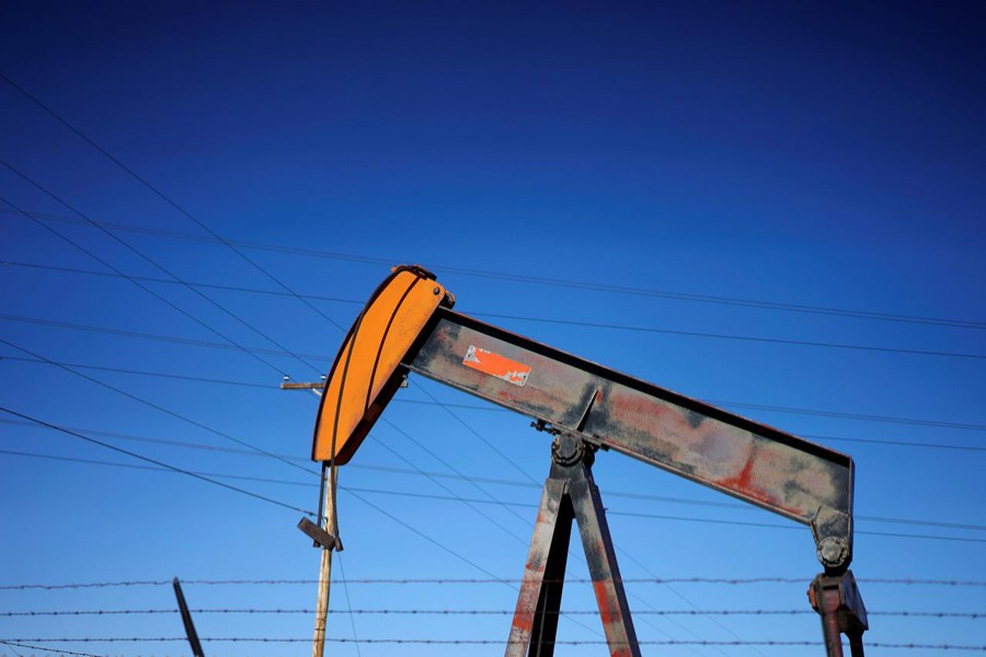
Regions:
[[[592,465],[612,450],[807,525],[824,566],[809,589],[827,657],[841,634],[862,657],[865,607],[852,560],[852,459],[454,312],[455,297],[420,266],[394,267],[346,335],[330,370],[311,458],[349,461],[409,372],[532,417],[553,436],[506,657],[551,657],[572,521],[585,549],[612,656],[638,656]]]

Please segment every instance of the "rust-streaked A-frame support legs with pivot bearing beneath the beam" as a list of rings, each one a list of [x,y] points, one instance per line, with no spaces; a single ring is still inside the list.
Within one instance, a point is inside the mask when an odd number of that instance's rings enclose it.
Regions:
[[[593,452],[592,446],[571,434],[554,440],[506,657],[554,655],[573,520],[578,525],[609,652],[640,657],[609,526],[593,481]]]

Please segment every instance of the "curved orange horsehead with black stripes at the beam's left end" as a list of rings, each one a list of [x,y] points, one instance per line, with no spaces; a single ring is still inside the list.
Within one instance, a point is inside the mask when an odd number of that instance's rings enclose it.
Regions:
[[[420,267],[398,267],[349,330],[322,392],[311,458],[335,463],[352,458],[389,400],[378,397],[411,345],[446,298],[445,288]]]

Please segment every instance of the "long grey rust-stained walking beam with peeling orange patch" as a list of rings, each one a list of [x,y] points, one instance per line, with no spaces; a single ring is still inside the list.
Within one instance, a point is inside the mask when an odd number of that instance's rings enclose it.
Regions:
[[[852,459],[439,308],[412,371],[807,525],[826,573],[852,558]]]

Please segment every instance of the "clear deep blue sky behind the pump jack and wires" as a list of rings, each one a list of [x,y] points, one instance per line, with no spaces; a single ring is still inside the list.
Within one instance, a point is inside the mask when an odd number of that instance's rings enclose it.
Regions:
[[[353,321],[391,264],[420,263],[461,312],[850,453],[868,641],[982,648],[982,619],[876,612],[986,611],[984,13],[0,2],[0,72],[290,290],[319,297],[313,310],[257,292],[283,290],[0,80],[0,405],[313,509],[318,480],[298,465],[314,470],[317,399],[278,390],[280,377],[318,378],[342,339],[333,324]],[[409,403],[428,395],[468,407]],[[330,654],[501,654],[508,615],[345,610],[513,609],[502,584],[379,580],[519,578],[548,440],[420,378],[386,419],[341,474],[330,636],[351,643]],[[11,414],[0,423],[4,612],[174,607],[162,585],[18,585],[317,576],[296,510]],[[595,474],[623,575],[638,580],[640,638],[743,644],[644,654],[821,654],[746,645],[816,642],[813,614],[658,613],[806,610],[818,570],[806,528],[619,454],[600,456]],[[569,573],[586,576],[575,558]],[[794,581],[639,581],[720,577]],[[906,578],[979,585],[872,581]],[[185,593],[197,609],[303,610],[316,591]],[[564,608],[593,608],[584,584]],[[311,622],[196,614],[203,637],[307,639]],[[600,635],[593,614],[559,631]],[[172,612],[0,615],[0,639],[181,636]],[[494,643],[380,643],[395,638]],[[188,654],[182,642],[22,643],[51,652],[0,655]]]

